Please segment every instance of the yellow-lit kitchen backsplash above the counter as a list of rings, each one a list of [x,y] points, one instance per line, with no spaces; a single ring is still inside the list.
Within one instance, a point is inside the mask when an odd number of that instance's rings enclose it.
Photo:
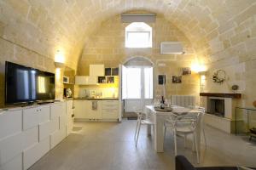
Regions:
[[[79,98],[118,98],[119,88],[79,88]]]

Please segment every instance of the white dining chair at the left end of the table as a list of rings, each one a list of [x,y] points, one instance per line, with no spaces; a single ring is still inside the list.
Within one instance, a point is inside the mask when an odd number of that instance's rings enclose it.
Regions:
[[[154,122],[151,120],[150,116],[143,112],[137,112],[137,126],[134,134],[134,139],[137,147],[137,140],[139,137],[139,133],[142,125],[149,125],[154,127]]]

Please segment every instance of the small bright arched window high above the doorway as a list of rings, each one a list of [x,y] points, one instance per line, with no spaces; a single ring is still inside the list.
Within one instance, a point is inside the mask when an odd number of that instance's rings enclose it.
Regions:
[[[143,22],[126,26],[125,48],[152,48],[152,28]]]

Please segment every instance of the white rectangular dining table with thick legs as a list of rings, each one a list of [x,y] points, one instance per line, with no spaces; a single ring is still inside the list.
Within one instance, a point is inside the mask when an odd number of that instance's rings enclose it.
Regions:
[[[145,111],[146,114],[152,119],[151,121],[154,122],[154,150],[156,152],[164,152],[164,123],[166,122],[166,119],[168,119],[171,114],[175,114],[176,116],[182,116],[186,114],[193,114],[193,113],[200,113],[201,111],[198,111],[196,109],[189,109],[185,108],[183,106],[178,105],[172,105],[171,106],[172,111],[156,111],[154,108],[154,105],[146,105]],[[198,122],[201,122],[201,114],[198,117]],[[147,130],[148,135],[151,135],[151,126],[148,125]],[[197,144],[198,148],[200,148],[201,145],[201,123],[197,124],[196,128],[196,138],[197,138]],[[200,152],[200,150],[199,150]]]

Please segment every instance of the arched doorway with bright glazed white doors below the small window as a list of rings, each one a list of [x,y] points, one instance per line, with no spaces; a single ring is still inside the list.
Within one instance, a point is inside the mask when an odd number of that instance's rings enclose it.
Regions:
[[[147,58],[136,57],[122,65],[124,117],[136,118],[154,99],[154,67]]]

